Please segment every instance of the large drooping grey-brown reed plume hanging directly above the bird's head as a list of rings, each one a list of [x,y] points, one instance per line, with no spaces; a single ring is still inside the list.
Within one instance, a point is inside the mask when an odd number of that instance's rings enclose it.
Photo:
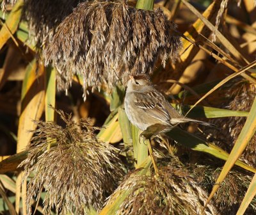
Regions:
[[[180,49],[175,28],[161,9],[137,10],[126,1],[84,2],[56,29],[45,62],[60,72],[61,88],[68,88],[74,74],[83,77],[84,93],[105,81],[112,86],[118,77],[125,82],[128,74],[151,73],[157,59],[163,66],[174,60]]]

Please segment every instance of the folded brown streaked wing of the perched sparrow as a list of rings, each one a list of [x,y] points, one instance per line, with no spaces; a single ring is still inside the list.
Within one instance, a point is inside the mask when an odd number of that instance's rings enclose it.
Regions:
[[[137,108],[143,109],[145,113],[161,120],[165,123],[170,123],[170,115],[168,109],[164,108],[166,106],[166,100],[163,95],[157,91],[150,91],[141,93],[140,97],[136,97],[134,104]],[[170,104],[168,104],[170,105]]]

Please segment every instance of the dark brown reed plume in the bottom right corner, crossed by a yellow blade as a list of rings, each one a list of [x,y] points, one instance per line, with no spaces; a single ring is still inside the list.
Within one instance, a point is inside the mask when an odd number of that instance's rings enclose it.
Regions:
[[[207,191],[207,193],[211,193],[212,187],[220,175],[221,168],[195,164],[190,164],[189,168],[196,175],[200,187]],[[252,177],[244,175],[239,171],[232,170],[228,173],[213,198],[214,205],[218,209],[219,214],[236,214],[251,181]],[[245,214],[255,213],[256,198],[252,200]]]

